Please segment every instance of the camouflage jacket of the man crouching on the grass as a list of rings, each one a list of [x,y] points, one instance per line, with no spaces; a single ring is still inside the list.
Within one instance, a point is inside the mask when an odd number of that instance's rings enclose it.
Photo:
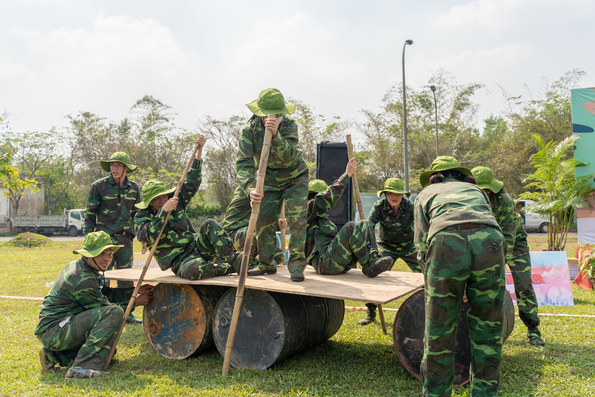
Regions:
[[[101,277],[83,258],[65,265],[43,298],[39,324],[33,333],[45,332],[69,314],[77,315],[108,305],[118,305],[126,310],[134,288],[100,288]]]

